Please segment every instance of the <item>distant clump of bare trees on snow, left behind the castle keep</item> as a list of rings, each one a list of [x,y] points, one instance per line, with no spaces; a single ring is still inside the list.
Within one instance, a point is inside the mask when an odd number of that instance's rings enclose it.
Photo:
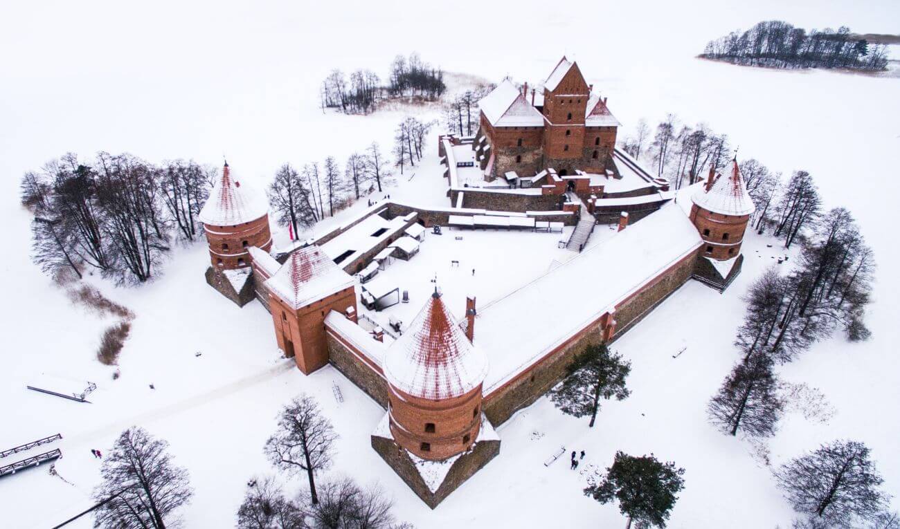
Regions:
[[[435,101],[444,94],[444,73],[419,58],[398,55],[391,64],[387,85],[372,71],[358,69],[350,74],[350,80],[339,69],[332,70],[322,82],[322,107],[335,108],[347,114],[374,112],[383,99],[389,97],[415,97]]]

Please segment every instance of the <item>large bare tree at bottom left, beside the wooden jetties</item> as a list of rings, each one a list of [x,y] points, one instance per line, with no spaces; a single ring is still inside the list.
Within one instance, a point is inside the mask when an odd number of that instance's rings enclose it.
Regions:
[[[187,471],[172,463],[168,443],[132,426],[121,433],[103,459],[94,527],[165,529],[175,510],[193,496]]]

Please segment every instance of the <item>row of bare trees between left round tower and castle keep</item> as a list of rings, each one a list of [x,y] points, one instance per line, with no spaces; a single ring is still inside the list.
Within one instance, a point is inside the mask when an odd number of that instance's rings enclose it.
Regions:
[[[376,189],[381,192],[391,180],[387,158],[378,143],[373,142],[365,152],[347,157],[344,172],[334,157],[325,158],[321,167],[318,162],[311,162],[300,171],[284,164],[269,184],[269,205],[278,221],[291,226],[297,234],[298,229],[334,215],[347,202]]]

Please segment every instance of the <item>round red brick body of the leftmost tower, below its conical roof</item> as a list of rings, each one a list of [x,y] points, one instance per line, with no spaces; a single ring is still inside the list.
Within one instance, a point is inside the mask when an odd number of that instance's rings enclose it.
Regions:
[[[210,262],[224,270],[249,266],[247,247],[258,247],[266,252],[272,248],[268,215],[237,226],[204,224],[203,228],[209,245]]]

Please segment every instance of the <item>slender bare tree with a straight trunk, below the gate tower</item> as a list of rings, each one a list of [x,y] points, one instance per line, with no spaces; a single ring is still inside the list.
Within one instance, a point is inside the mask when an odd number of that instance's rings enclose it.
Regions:
[[[319,498],[313,474],[329,468],[332,444],[337,438],[316,401],[302,395],[282,409],[278,428],[266,441],[266,455],[272,464],[285,471],[305,471],[310,480],[311,502],[316,505]]]

